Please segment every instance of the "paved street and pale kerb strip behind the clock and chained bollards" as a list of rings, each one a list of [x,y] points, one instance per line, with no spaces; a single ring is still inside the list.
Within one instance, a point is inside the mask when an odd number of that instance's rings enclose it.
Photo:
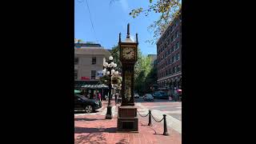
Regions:
[[[166,114],[167,126],[176,130],[179,134],[182,134],[182,102],[170,102],[168,99],[154,99],[152,102],[144,101],[142,98],[134,98],[135,106],[138,107],[138,112],[142,115],[148,114],[151,110],[151,114],[156,118],[156,120],[161,120],[163,118],[162,114]],[[118,114],[118,106],[114,102],[111,102],[113,117]],[[82,115],[106,115],[106,105],[102,108],[96,110],[94,113],[85,114],[84,112],[75,111],[74,116]],[[142,117],[138,115],[138,118]],[[144,118],[145,120],[148,117]],[[152,122],[154,119],[152,118]]]

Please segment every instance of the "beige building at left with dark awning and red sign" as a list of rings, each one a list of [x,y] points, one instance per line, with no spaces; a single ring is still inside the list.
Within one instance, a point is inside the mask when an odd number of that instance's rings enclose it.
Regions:
[[[74,88],[90,94],[90,97],[97,89],[102,89],[98,87],[102,86],[99,78],[102,76],[103,62],[109,55],[100,44],[74,43]]]

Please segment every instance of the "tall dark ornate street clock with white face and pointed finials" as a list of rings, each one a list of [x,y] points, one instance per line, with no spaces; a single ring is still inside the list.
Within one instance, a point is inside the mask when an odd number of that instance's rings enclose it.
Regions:
[[[136,42],[130,39],[129,23],[125,42],[121,42],[119,34],[118,47],[122,62],[122,103],[118,107],[118,131],[138,132],[137,107],[134,106],[134,64],[137,62],[138,34]]]

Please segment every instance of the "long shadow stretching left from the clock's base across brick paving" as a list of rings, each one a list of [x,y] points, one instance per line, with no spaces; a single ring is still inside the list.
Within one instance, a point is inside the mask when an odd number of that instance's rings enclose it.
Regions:
[[[110,128],[86,128],[86,127],[74,127],[75,134],[82,134],[82,133],[100,133],[100,132],[108,132],[108,133],[116,133],[116,127]]]

